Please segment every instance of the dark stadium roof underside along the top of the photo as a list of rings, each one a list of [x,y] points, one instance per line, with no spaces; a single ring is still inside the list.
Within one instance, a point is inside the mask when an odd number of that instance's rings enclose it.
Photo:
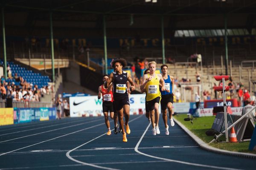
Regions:
[[[255,14],[255,0],[8,0],[6,11],[58,11],[88,14],[191,15]]]

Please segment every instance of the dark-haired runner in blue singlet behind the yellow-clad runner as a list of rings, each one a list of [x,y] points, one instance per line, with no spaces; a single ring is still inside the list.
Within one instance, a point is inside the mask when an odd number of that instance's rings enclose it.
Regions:
[[[169,119],[171,122],[171,126],[174,126],[175,123],[172,119],[172,103],[173,103],[173,82],[174,78],[172,76],[169,76],[168,73],[168,66],[167,65],[161,65],[161,71],[162,71],[162,77],[164,80],[164,85],[166,88],[166,91],[160,91],[162,95],[162,100],[161,100],[161,110],[162,110],[162,115],[163,115],[163,122],[165,124],[166,130],[165,134],[169,135],[169,126],[167,124],[167,108],[169,112]]]

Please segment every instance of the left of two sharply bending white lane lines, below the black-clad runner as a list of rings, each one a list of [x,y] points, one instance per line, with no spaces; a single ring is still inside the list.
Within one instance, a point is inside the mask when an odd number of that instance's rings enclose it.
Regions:
[[[141,116],[142,116],[142,115],[141,115]],[[134,120],[140,118],[141,116],[138,116],[137,118],[132,119],[132,120],[129,121],[129,122],[133,122]],[[81,144],[80,146],[75,147],[75,148],[73,148],[72,150],[69,150],[69,151],[66,153],[67,158],[70,159],[70,160],[72,160],[72,161],[75,161],[75,162],[77,162],[77,163],[79,163],[79,164],[88,165],[88,166],[91,166],[91,167],[101,168],[101,169],[105,169],[105,170],[118,170],[118,169],[109,168],[109,167],[102,167],[102,166],[99,166],[99,165],[96,165],[96,164],[89,164],[89,163],[86,163],[86,162],[83,162],[83,161],[76,160],[76,159],[72,158],[72,156],[70,156],[70,153],[73,152],[74,150],[76,150],[76,149],[78,149],[79,147],[82,147],[82,146],[84,146],[85,144],[90,143],[90,142],[92,142],[92,141],[94,141],[94,140],[96,140],[96,139],[98,139],[98,138],[104,136],[105,134],[106,134],[106,133],[104,133],[104,134],[102,134],[102,135],[100,135],[100,136],[98,136],[98,137],[96,137],[96,138],[94,138],[94,139],[92,139],[92,140],[90,140],[90,141],[84,143],[84,144]]]

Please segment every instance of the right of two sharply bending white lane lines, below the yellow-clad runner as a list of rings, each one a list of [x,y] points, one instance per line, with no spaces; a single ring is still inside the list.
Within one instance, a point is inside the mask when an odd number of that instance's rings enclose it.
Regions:
[[[215,168],[215,169],[221,169],[221,170],[239,170],[239,169],[230,168],[230,167],[217,167],[217,166],[212,166],[212,165],[195,164],[195,163],[190,163],[190,162],[186,162],[186,161],[178,161],[178,160],[174,160],[174,159],[166,159],[166,158],[161,158],[161,157],[158,157],[158,156],[152,156],[152,155],[148,155],[146,153],[140,152],[138,150],[138,147],[139,147],[140,142],[142,141],[143,137],[145,136],[145,133],[148,131],[148,128],[150,127],[150,125],[151,124],[149,123],[148,127],[146,128],[143,135],[141,136],[139,142],[136,144],[136,147],[134,148],[135,152],[140,153],[141,155],[144,155],[144,156],[154,158],[154,159],[161,159],[161,160],[164,160],[164,161],[176,162],[176,163],[180,163],[180,164],[187,164],[187,165],[193,165],[193,166],[198,166],[198,167]]]

